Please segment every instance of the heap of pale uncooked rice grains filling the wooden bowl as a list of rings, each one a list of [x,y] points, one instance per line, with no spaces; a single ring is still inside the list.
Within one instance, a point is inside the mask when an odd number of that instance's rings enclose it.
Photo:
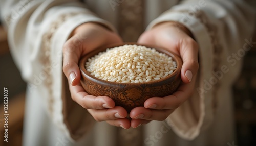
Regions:
[[[96,78],[118,83],[143,83],[172,74],[172,57],[141,45],[108,48],[88,59],[86,69]]]

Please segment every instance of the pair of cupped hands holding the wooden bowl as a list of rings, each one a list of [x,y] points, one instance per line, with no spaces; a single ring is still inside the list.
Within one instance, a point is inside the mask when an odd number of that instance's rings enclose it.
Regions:
[[[156,45],[168,48],[181,56],[182,83],[172,95],[158,98],[153,97],[144,102],[144,107],[136,107],[127,111],[106,96],[93,96],[84,91],[80,84],[80,57],[97,47],[112,43],[121,43],[122,39],[114,32],[103,26],[88,22],[78,26],[71,34],[71,38],[63,47],[63,72],[69,80],[72,99],[87,109],[96,121],[106,121],[110,125],[129,129],[147,124],[152,120],[166,119],[176,108],[186,101],[194,90],[198,65],[198,45],[191,38],[184,27],[174,22],[163,22],[153,29],[144,32],[138,43]]]

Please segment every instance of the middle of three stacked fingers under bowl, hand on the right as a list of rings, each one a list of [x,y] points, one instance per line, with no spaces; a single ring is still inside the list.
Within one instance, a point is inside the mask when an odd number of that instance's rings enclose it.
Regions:
[[[174,110],[153,110],[144,107],[136,107],[130,112],[132,119],[159,120],[166,119]]]

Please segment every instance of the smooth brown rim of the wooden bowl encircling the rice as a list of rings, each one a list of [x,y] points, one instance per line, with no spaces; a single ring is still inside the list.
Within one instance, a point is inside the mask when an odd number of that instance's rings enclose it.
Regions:
[[[102,52],[102,51],[105,51],[106,49],[108,48],[114,48],[114,47],[118,47],[118,46],[123,46],[123,45],[141,45],[141,46],[145,46],[147,48],[155,48],[156,51],[160,52],[160,53],[165,53],[166,55],[170,56],[173,58],[174,61],[176,61],[177,63],[177,67],[176,69],[174,70],[174,72],[162,79],[159,79],[159,80],[154,80],[154,81],[149,81],[149,82],[143,82],[143,83],[119,83],[119,82],[112,82],[112,81],[106,81],[106,80],[103,80],[103,79],[99,79],[93,75],[91,75],[85,65],[86,65],[86,62],[89,58],[97,55],[99,52]],[[178,56],[177,54],[173,53],[172,51],[169,51],[167,50],[166,48],[164,47],[160,47],[160,46],[155,46],[155,45],[151,45],[151,44],[143,44],[143,43],[137,43],[137,42],[124,42],[124,43],[113,43],[113,44],[110,44],[110,45],[106,45],[106,46],[101,46],[101,47],[98,47],[96,48],[95,50],[87,53],[86,55],[82,56],[81,59],[79,60],[79,69],[80,69],[80,72],[81,72],[81,76],[86,76],[87,78],[89,78],[90,80],[92,81],[100,81],[101,83],[103,84],[112,84],[113,86],[120,86],[120,85],[145,85],[145,84],[150,84],[150,83],[160,83],[160,82],[163,82],[163,81],[166,81],[170,78],[173,78],[176,74],[180,74],[181,72],[181,67],[182,67],[182,60],[180,58],[180,56]]]

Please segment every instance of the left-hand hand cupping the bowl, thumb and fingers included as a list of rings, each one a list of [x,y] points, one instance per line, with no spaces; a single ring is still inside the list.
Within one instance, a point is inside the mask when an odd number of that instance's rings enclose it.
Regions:
[[[97,47],[121,43],[121,38],[103,26],[88,22],[78,26],[63,46],[63,72],[69,81],[72,99],[87,109],[96,121],[107,121],[113,126],[130,128],[127,112],[115,107],[115,102],[106,96],[93,96],[84,91],[80,84],[79,59]]]

